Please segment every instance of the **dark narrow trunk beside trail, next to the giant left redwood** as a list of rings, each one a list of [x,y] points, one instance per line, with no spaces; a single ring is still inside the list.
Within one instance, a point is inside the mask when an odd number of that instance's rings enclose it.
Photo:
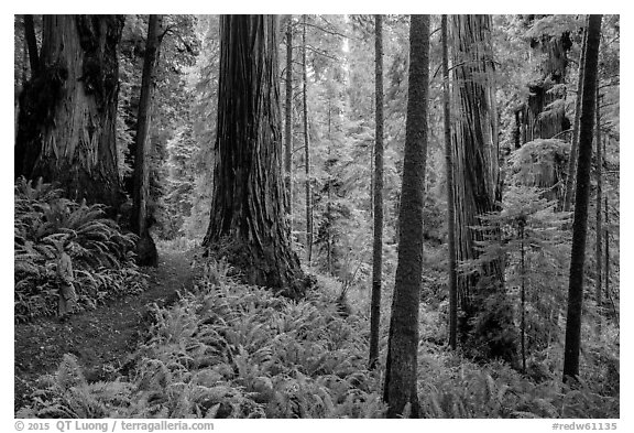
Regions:
[[[150,15],[147,24],[147,41],[145,43],[145,58],[143,59],[143,75],[141,77],[141,96],[139,98],[139,116],[136,118],[136,138],[134,149],[134,191],[132,203],[132,229],[139,235],[136,257],[139,264],[156,266],[158,256],[156,246],[150,235],[147,226],[147,199],[150,198],[150,126],[152,116],[152,96],[154,94],[154,69],[160,48],[158,30],[163,21],[162,15]]]

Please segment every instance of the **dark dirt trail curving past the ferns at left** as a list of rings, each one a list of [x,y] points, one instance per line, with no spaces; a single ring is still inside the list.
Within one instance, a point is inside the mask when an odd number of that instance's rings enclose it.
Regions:
[[[29,402],[37,378],[55,371],[64,354],[75,355],[91,381],[107,380],[109,372],[125,365],[147,326],[150,305],[172,304],[176,291],[189,290],[194,283],[189,252],[158,253],[158,267],[143,269],[149,275],[145,292],[80,312],[65,323],[41,317],[15,325],[15,410]]]

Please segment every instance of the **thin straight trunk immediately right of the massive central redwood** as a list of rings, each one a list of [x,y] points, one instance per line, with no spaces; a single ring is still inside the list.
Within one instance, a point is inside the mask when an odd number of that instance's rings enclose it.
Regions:
[[[288,227],[293,227],[293,15],[288,15],[288,21],[286,21],[286,104],[284,106],[285,110],[285,122],[286,128],[284,132],[286,133],[286,149],[284,152],[284,170],[285,170],[285,183],[286,183],[286,214],[291,218],[291,224]]]

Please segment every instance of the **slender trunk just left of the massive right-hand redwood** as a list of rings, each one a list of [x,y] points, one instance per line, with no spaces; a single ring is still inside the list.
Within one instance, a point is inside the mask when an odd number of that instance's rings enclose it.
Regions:
[[[453,158],[451,155],[451,109],[449,94],[449,46],[447,15],[440,22],[442,37],[442,110],[445,132],[445,175],[447,177],[447,231],[449,273],[449,346],[457,347],[458,335],[458,285],[456,281],[456,209],[453,199]]]

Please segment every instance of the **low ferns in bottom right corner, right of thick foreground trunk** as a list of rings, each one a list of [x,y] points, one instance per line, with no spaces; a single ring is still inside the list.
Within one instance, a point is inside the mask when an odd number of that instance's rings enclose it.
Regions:
[[[429,366],[429,355],[423,364]],[[510,367],[477,366],[455,357],[433,372],[422,371],[418,385],[425,418],[619,418],[619,398],[605,396],[590,381],[576,389],[558,375],[535,383]]]

